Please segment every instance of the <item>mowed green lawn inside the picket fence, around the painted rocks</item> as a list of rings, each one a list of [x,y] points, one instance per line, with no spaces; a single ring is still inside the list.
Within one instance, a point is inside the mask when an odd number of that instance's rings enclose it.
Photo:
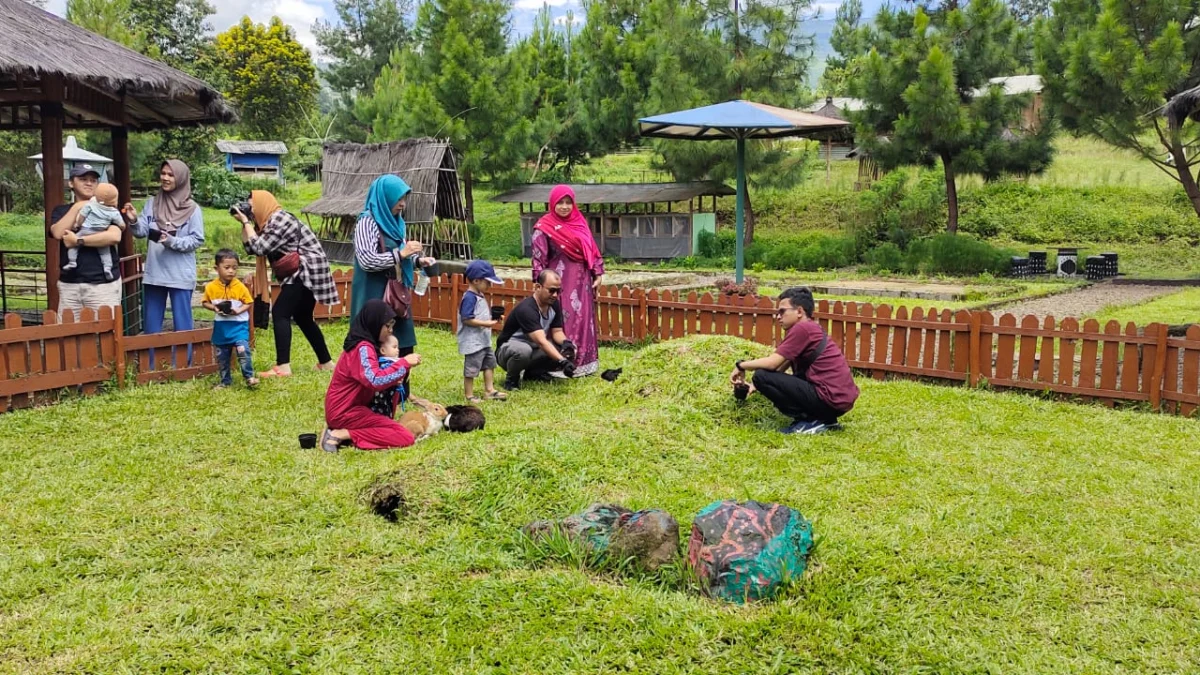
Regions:
[[[340,345],[346,325],[326,327]],[[271,363],[259,334],[256,362]],[[461,401],[449,333],[418,394]],[[487,429],[300,450],[328,375],[211,380],[0,417],[5,673],[1188,673],[1200,664],[1200,422],[860,380],[846,430],[784,437],[724,381],[752,346],[602,352]],[[360,501],[400,471],[410,512]],[[678,571],[535,560],[518,528],[590,502],[725,497],[814,520],[804,578],[732,607]]]

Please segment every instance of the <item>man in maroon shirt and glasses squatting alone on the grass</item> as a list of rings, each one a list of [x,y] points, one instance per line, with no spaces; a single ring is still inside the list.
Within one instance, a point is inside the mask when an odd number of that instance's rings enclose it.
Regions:
[[[841,353],[821,324],[812,319],[812,292],[788,288],[779,295],[775,319],[784,328],[784,340],[769,357],[740,360],[730,382],[744,384],[754,371],[750,393],[767,396],[779,412],[792,418],[784,434],[823,434],[840,429],[838,418],[850,412],[858,399],[858,386]],[[786,372],[787,370],[792,372]]]

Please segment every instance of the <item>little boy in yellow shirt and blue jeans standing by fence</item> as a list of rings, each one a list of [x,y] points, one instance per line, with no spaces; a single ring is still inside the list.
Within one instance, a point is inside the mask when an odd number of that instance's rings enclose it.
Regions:
[[[221,249],[216,255],[217,277],[204,287],[203,304],[216,312],[212,321],[212,346],[217,350],[221,383],[217,388],[233,384],[232,360],[238,354],[238,365],[247,387],[258,384],[250,354],[250,310],[254,298],[250,288],[238,279],[238,253]]]

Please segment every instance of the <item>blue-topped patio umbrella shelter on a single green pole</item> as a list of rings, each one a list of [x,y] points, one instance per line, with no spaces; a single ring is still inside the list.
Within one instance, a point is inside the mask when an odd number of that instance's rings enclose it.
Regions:
[[[742,282],[745,250],[746,138],[784,138],[815,136],[850,126],[850,123],[776,108],[751,101],[727,101],[714,106],[666,113],[637,120],[642,136],[676,138],[679,141],[737,141],[738,199],[737,199],[737,281]]]

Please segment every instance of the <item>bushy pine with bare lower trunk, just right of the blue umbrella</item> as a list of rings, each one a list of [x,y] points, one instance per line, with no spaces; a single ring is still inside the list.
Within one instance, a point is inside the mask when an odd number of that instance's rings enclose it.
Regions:
[[[971,0],[936,14],[883,8],[875,46],[854,82],[866,109],[857,136],[886,168],[941,161],[949,217],[959,225],[955,179],[1038,173],[1052,155],[1054,126],[1021,132],[1027,96],[1006,96],[989,79],[1013,72],[1021,47],[1016,22],[1000,0]]]

